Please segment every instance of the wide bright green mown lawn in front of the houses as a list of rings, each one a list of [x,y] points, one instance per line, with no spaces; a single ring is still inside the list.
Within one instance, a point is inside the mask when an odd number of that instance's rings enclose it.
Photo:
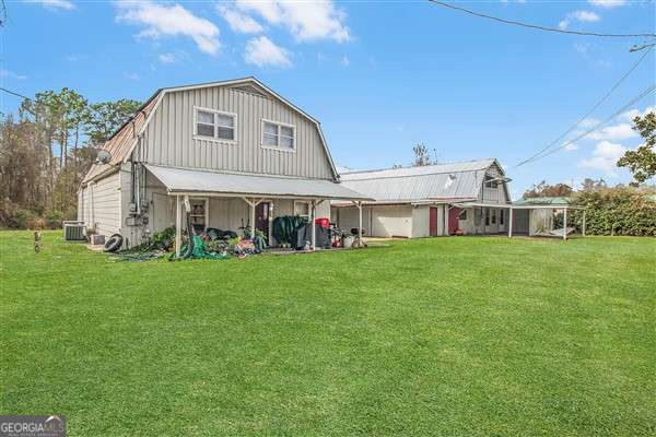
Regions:
[[[109,262],[0,233],[1,413],[70,436],[656,434],[656,240]]]

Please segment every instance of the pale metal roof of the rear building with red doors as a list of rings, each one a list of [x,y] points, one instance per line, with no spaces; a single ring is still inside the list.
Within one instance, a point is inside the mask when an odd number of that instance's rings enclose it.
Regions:
[[[341,181],[350,189],[382,203],[467,201],[478,199],[485,170],[495,163],[495,160],[490,158],[422,167],[350,172],[341,175]]]

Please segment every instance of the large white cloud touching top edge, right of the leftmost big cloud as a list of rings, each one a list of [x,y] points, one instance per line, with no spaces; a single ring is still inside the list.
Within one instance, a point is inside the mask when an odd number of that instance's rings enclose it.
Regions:
[[[242,11],[258,14],[269,24],[285,27],[297,40],[333,39],[344,43],[351,39],[344,25],[345,14],[331,0],[237,0],[236,5]]]

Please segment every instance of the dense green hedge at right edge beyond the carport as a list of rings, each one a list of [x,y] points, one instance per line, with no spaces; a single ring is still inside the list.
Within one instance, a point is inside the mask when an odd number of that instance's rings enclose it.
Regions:
[[[586,233],[656,237],[656,202],[653,192],[617,187],[576,193],[574,204],[586,209]],[[574,211],[574,223],[582,223],[582,211]]]

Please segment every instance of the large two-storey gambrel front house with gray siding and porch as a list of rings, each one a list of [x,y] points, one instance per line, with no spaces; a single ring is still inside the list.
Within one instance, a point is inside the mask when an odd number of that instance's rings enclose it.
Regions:
[[[272,238],[277,216],[314,223],[330,201],[368,199],[340,184],[319,122],[254,78],[157,90],[103,149],[79,220],[124,247],[175,225],[179,250],[181,211],[197,232]]]

